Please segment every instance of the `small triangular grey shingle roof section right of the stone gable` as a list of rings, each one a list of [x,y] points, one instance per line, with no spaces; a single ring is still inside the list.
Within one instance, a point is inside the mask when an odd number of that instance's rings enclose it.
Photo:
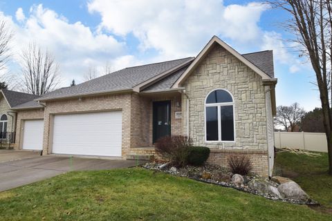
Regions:
[[[255,64],[257,68],[261,69],[270,77],[275,77],[275,71],[273,68],[273,51],[264,50],[259,52],[253,52],[242,55],[252,64]]]

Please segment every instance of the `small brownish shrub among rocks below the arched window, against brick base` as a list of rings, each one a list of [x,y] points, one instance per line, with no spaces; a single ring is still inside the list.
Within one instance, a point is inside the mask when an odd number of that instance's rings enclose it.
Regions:
[[[230,156],[228,166],[233,174],[247,175],[252,170],[252,164],[246,155]]]

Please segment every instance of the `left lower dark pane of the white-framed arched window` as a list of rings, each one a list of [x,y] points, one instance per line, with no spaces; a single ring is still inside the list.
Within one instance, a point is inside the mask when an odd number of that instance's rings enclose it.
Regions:
[[[206,140],[218,140],[218,108],[206,107]]]

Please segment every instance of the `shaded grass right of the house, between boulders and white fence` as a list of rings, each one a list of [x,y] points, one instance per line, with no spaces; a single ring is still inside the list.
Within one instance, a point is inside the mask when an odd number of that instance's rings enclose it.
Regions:
[[[275,170],[297,182],[308,195],[332,213],[332,176],[328,175],[328,155],[310,157],[295,153],[277,153]]]

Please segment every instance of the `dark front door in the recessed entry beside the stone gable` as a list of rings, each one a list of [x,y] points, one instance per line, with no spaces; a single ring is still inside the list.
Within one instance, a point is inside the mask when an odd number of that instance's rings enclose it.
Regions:
[[[171,135],[171,102],[154,102],[153,142]]]

